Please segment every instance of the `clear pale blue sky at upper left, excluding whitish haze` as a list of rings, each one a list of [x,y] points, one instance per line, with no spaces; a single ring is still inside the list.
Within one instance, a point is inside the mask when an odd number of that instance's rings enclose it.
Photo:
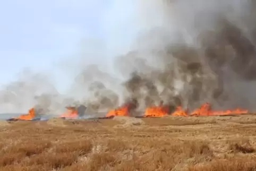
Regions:
[[[109,20],[114,15],[111,11],[117,7],[115,2],[0,1],[0,84],[15,80],[18,73],[29,68],[52,73],[58,78],[55,80],[58,89],[64,90],[61,80],[66,73],[59,65],[78,59],[83,46],[87,46],[88,52],[93,42],[101,43],[103,48],[106,41],[112,46],[109,37],[115,34],[118,39],[118,33],[112,29],[115,21]],[[83,58],[87,62],[97,61],[97,57],[85,55]]]

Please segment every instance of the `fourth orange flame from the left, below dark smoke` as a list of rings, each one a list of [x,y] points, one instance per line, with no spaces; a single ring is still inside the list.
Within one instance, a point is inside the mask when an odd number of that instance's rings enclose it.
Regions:
[[[144,117],[162,117],[168,115],[168,107],[153,106],[146,109]]]

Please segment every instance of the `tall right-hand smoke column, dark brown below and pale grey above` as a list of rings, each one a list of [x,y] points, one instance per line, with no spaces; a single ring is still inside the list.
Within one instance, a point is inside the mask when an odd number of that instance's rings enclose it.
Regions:
[[[255,3],[140,1],[138,6],[140,34],[115,66],[130,75],[124,86],[141,108],[164,100],[190,109],[206,101],[219,109],[254,109]]]

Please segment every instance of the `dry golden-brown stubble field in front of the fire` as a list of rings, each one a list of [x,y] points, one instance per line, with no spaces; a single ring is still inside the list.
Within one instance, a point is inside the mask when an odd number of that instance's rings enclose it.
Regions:
[[[0,170],[256,170],[256,116],[0,123]]]

